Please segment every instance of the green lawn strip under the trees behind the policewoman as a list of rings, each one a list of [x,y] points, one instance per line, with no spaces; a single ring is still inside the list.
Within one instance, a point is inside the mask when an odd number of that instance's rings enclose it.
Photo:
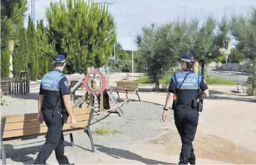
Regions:
[[[169,84],[170,83],[170,79],[172,77],[172,75],[175,72],[165,72],[162,77],[160,77],[160,84]],[[207,84],[224,84],[224,85],[235,85],[237,84],[237,81],[232,81],[229,79],[224,79],[222,77],[216,77],[216,76],[212,76],[209,75],[209,77],[206,77],[205,81],[207,82]],[[149,77],[147,75],[143,75],[142,77],[140,77],[140,79],[136,80],[136,82],[138,82],[139,84],[153,84],[153,80],[149,79]]]

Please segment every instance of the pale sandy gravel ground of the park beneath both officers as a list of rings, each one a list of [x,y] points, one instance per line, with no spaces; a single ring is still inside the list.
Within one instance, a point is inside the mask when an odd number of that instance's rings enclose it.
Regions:
[[[256,120],[255,98],[238,94],[236,86],[209,86],[211,98],[204,100],[199,116],[194,149],[197,164],[255,164]],[[165,93],[139,92],[143,101],[164,104]],[[124,94],[120,97],[125,97]],[[136,95],[129,95],[138,99]],[[29,95],[4,96],[8,105],[1,115],[37,112],[38,90]],[[74,134],[75,146],[65,137],[65,152],[76,164],[172,164],[177,163],[181,140],[173,123],[161,121],[162,105],[131,101],[123,105],[123,118],[118,114],[97,116],[92,131],[109,129],[114,134],[93,134],[96,153],[90,151],[85,133]],[[8,164],[31,164],[40,151],[44,138],[5,144]],[[49,164],[57,164],[53,153]]]

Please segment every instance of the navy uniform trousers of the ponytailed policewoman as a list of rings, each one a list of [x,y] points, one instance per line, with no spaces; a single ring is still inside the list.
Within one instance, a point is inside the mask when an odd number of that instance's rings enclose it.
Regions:
[[[179,164],[188,164],[188,162],[190,164],[196,164],[192,142],[194,141],[198,127],[198,110],[177,105],[177,110],[174,111],[173,115],[182,142]]]

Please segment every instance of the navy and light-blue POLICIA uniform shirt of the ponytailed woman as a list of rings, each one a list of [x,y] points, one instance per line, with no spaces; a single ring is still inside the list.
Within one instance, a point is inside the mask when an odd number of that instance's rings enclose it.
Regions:
[[[186,77],[186,75],[188,76]],[[185,81],[183,79],[186,77]],[[181,83],[183,84],[181,85]],[[180,88],[179,88],[180,87]],[[179,90],[177,90],[179,88]],[[177,95],[178,104],[191,103],[193,99],[198,98],[198,89],[207,90],[208,86],[205,79],[199,73],[192,71],[179,71],[172,75],[168,92]]]

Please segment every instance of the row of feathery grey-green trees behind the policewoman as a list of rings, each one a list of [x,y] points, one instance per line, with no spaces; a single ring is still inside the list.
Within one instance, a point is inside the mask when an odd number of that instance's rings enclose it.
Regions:
[[[229,62],[241,62],[242,56],[250,59],[255,77],[256,8],[246,16],[232,16],[231,19],[223,17],[220,21],[208,17],[203,23],[199,23],[198,19],[184,19],[159,27],[155,24],[143,27],[142,34],[136,38],[139,57],[136,60],[146,66],[143,71],[159,90],[159,81],[166,79],[163,78],[164,71],[176,67],[177,58],[182,53],[196,55],[201,73],[205,75],[205,66],[210,62],[225,62],[225,54],[221,49],[227,49],[231,38],[235,38],[237,45],[231,49]]]

